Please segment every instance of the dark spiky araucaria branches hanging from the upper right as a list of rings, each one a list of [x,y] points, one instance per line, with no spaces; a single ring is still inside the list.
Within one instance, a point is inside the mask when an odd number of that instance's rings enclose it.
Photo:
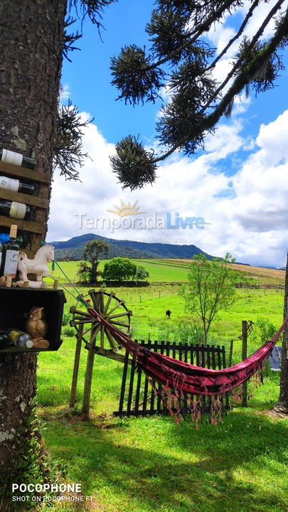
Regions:
[[[248,92],[249,87],[256,93],[274,87],[284,69],[279,52],[288,45],[288,10],[284,0],[275,0],[260,23],[256,9],[264,3],[267,1],[250,0],[245,18],[234,16],[233,23],[238,22],[235,36],[217,55],[207,31],[213,23],[235,15],[243,1],[157,0],[146,24],[150,51],[131,44],[112,58],[112,84],[119,90],[118,99],[137,105],[155,102],[164,86],[170,93],[156,123],[161,144],[158,155],[146,151],[132,135],[117,144],[111,162],[123,188],[133,190],[153,183],[157,164],[174,151],[192,155],[203,148],[206,134],[214,131],[223,114],[230,114],[233,100],[241,92]],[[273,20],[274,32],[265,39],[265,28]],[[255,23],[252,38],[243,36],[249,21]],[[213,71],[225,56],[233,65],[223,81],[217,82]]]

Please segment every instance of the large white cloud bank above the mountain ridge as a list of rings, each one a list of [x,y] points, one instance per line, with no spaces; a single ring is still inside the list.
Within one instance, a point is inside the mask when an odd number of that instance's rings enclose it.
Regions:
[[[109,144],[94,124],[85,129],[87,159],[80,170],[82,183],[65,182],[55,175],[50,208],[48,240],[64,240],[84,233],[110,238],[194,244],[218,256],[231,252],[238,261],[283,266],[287,252],[288,110],[270,124],[262,124],[255,146],[244,139],[241,123],[222,124],[206,141],[206,153],[195,159],[174,154],[158,169],[154,186],[122,191],[111,171]],[[245,149],[250,154],[245,156]],[[239,153],[240,151],[240,153]],[[238,159],[233,176],[231,159]],[[228,164],[228,162],[230,162]],[[211,223],[203,230],[80,230],[79,217],[113,218],[107,213],[118,205],[138,200],[146,217],[178,212],[183,218],[197,216]]]

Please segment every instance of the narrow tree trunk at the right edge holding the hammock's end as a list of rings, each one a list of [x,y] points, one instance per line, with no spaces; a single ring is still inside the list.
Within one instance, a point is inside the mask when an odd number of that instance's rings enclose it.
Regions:
[[[284,293],[284,318],[287,316],[288,311],[288,254],[287,266],[285,274],[285,293]],[[282,363],[281,363],[281,379],[280,379],[280,395],[279,403],[277,404],[279,410],[288,414],[288,328],[284,329],[284,336],[282,342]]]

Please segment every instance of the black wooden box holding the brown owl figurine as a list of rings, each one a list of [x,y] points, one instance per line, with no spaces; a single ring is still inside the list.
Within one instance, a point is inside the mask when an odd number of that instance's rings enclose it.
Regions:
[[[25,332],[30,309],[43,306],[48,324],[45,337],[50,342],[49,348],[9,347],[0,348],[0,353],[57,351],[62,343],[60,335],[65,302],[63,290],[0,287],[0,330],[16,327]]]

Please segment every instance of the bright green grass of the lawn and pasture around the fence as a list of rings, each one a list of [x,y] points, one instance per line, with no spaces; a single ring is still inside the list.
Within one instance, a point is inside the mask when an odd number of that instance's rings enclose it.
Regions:
[[[77,262],[67,262],[73,277]],[[178,282],[185,268],[145,262],[154,272],[154,284],[145,288],[116,289],[132,309],[132,337],[174,341],[183,336],[180,322],[193,326],[178,297]],[[151,267],[150,267],[151,265]],[[169,281],[169,267],[170,272]],[[158,274],[157,274],[158,268]],[[161,277],[160,277],[161,276]],[[158,277],[158,279],[157,279]],[[165,278],[164,278],[165,277]],[[175,284],[170,284],[174,282]],[[87,289],[81,289],[87,293]],[[109,291],[109,290],[107,290]],[[75,304],[73,297],[68,304]],[[210,333],[210,343],[234,339],[233,362],[240,361],[242,319],[282,321],[282,290],[240,290],[240,299],[223,311]],[[171,320],[165,311],[171,309]],[[64,327],[63,333],[70,328]],[[248,351],[260,345],[260,332],[250,335]],[[186,341],[182,339],[182,341]],[[87,508],[65,510],[97,512],[276,512],[287,511],[288,429],[285,420],[275,420],[267,410],[277,401],[279,375],[268,372],[249,407],[235,405],[223,423],[206,422],[195,430],[189,418],[176,425],[171,417],[116,419],[122,365],[95,358],[92,385],[92,419],[83,422],[69,410],[75,338],[63,336],[55,353],[38,357],[38,402],[46,422],[44,437],[48,452],[68,469],[68,481],[82,483]],[[87,351],[82,350],[76,409],[80,410]],[[50,509],[51,510],[51,509]],[[63,510],[55,506],[54,510]]]

